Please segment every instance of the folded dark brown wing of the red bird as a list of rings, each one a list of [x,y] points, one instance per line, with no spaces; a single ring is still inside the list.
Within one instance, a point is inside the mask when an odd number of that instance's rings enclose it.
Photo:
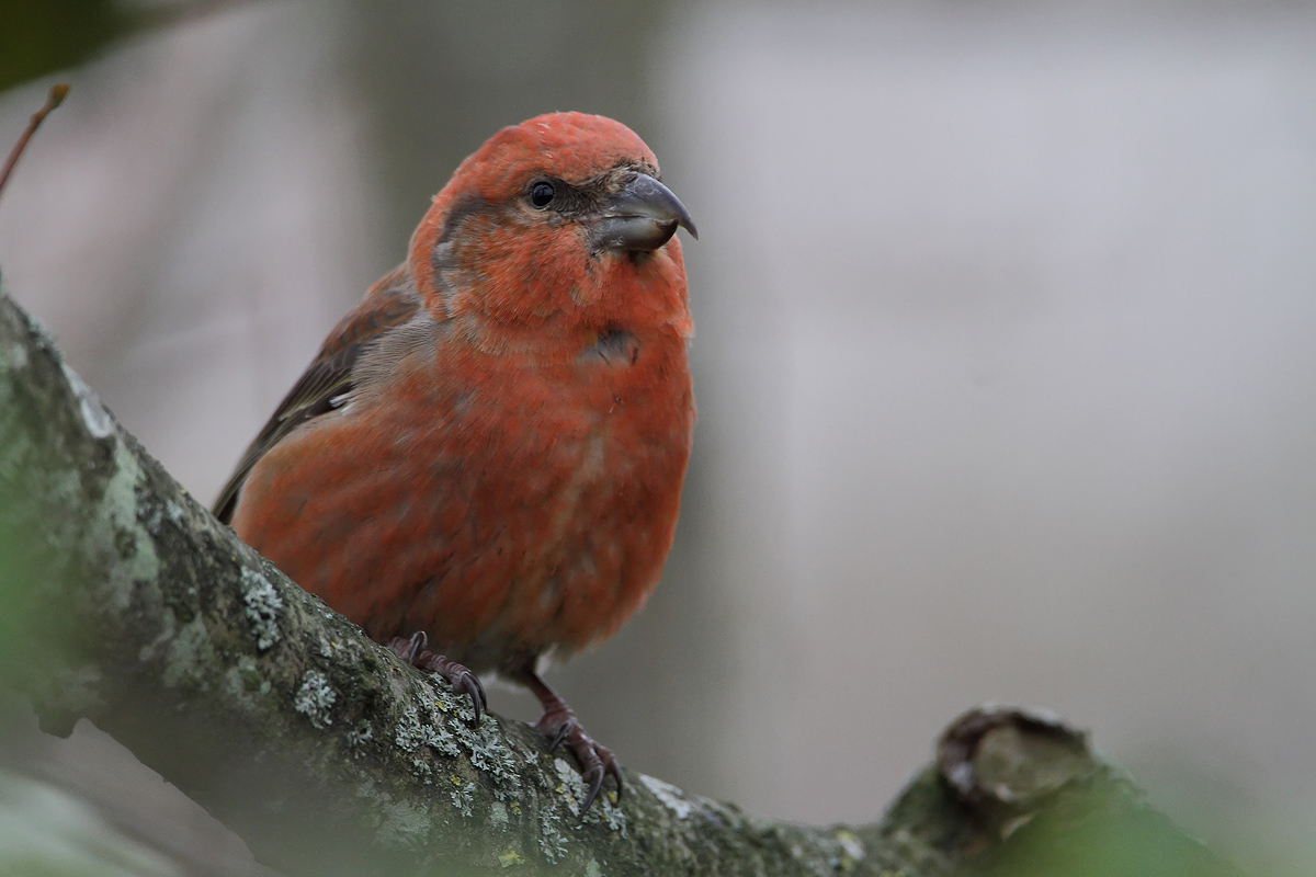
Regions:
[[[215,501],[215,517],[229,523],[238,492],[251,467],[288,433],[307,421],[340,408],[353,391],[353,369],[361,355],[390,330],[405,323],[420,309],[420,296],[401,266],[384,276],[365,301],[334,326],[320,354],[279,402],[274,415],[242,455],[233,475]]]

